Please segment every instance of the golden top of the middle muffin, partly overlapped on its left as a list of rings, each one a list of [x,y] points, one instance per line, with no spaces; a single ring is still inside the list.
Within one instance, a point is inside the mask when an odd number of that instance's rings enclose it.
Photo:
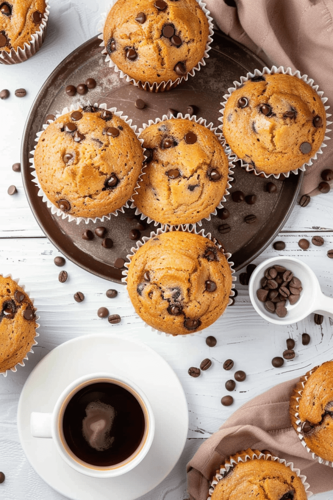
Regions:
[[[195,223],[212,213],[228,183],[229,162],[203,125],[172,118],[140,134],[148,156],[133,196],[138,209],[163,224]]]

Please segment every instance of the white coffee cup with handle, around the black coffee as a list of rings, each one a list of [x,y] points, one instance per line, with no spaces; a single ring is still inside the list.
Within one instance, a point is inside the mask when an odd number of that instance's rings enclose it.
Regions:
[[[66,443],[62,428],[63,415],[71,398],[83,387],[96,382],[110,382],[120,385],[133,394],[142,408],[145,419],[144,433],[139,446],[125,460],[111,466],[92,465],[78,458]],[[93,373],[81,376],[70,383],[60,394],[51,413],[33,411],[30,416],[30,427],[32,436],[52,438],[57,451],[72,468],[82,474],[102,478],[124,474],[141,462],[152,444],[155,420],[147,397],[135,383],[110,373]]]

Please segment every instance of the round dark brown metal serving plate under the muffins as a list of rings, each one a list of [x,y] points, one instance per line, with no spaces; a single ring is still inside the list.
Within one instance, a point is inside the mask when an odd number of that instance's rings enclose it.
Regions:
[[[115,268],[113,264],[117,257],[125,258],[135,244],[135,241],[129,238],[129,231],[136,222],[129,220],[134,210],[127,209],[126,213],[112,216],[103,224],[91,222],[76,224],[74,221],[68,222],[67,219],[63,220],[51,214],[46,203],[37,195],[38,188],[32,182],[29,164],[31,157],[29,151],[34,147],[36,132],[42,129],[45,116],[61,112],[63,107],[71,103],[78,101],[86,104],[89,100],[91,103],[105,102],[110,107],[116,106],[140,127],[149,119],[162,117],[168,108],[185,114],[187,106],[195,104],[199,108],[198,116],[218,126],[220,102],[228,87],[248,71],[262,69],[265,63],[246,47],[216,31],[206,66],[173,90],[149,93],[120,79],[118,73],[105,63],[99,43],[100,40],[96,36],[75,49],[54,69],[38,92],[23,134],[22,176],[32,212],[52,243],[70,260],[89,272],[120,282],[121,270]],[[66,85],[77,85],[88,77],[95,78],[97,86],[87,94],[69,97],[65,93]],[[146,102],[145,109],[136,109],[134,102],[137,98]],[[246,195],[256,194],[257,202],[254,205],[249,205],[245,201],[235,203],[229,195],[225,207],[230,211],[230,217],[222,221],[219,217],[212,216],[210,221],[203,221],[203,227],[219,238],[226,251],[233,254],[232,260],[235,262],[236,270],[259,255],[285,224],[296,202],[302,176],[303,172],[300,175],[291,174],[283,181],[272,178],[277,191],[268,193],[267,179],[253,175],[239,166],[235,167],[235,180],[230,192],[241,190]],[[244,222],[244,217],[249,214],[257,216],[256,222],[251,224]],[[220,234],[218,226],[221,223],[228,223],[231,227],[230,232]],[[81,235],[85,229],[94,230],[99,225],[107,227],[107,236],[114,242],[112,248],[102,247],[102,240],[97,236],[91,241],[82,239]],[[152,223],[146,225],[141,235],[148,236],[153,228]]]

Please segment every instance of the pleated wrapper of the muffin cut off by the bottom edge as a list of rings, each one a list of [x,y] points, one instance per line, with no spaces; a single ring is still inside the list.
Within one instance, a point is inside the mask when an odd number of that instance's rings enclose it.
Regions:
[[[276,461],[279,463],[283,463],[287,467],[289,467],[295,474],[301,479],[302,484],[304,486],[305,492],[307,494],[307,498],[313,495],[311,491],[309,491],[310,484],[307,482],[307,476],[301,474],[301,470],[298,468],[294,467],[293,462],[287,462],[284,458],[279,458],[278,456],[273,456],[271,454],[264,454],[264,453],[257,453],[254,451],[254,455],[251,457],[249,453],[247,453],[248,450],[246,451],[239,451],[235,455],[231,455],[223,465],[221,465],[220,469],[216,471],[216,475],[213,477],[213,480],[211,482],[211,486],[209,488],[209,496],[207,500],[211,500],[213,491],[215,489],[215,486],[217,483],[220,481],[220,479],[223,478],[224,474],[229,471],[230,468],[232,468],[234,465],[237,465],[239,462],[246,462],[247,460],[256,460],[263,458],[264,460],[271,460],[271,461]],[[256,457],[256,458],[255,458]]]

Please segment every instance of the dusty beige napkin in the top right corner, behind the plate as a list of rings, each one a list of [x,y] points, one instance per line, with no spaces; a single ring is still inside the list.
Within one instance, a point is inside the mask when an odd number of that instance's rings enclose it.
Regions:
[[[328,97],[326,105],[332,107],[332,0],[205,1],[222,31],[246,45],[269,66],[290,66],[308,74]],[[332,109],[328,112],[332,113]],[[328,147],[323,154],[307,167],[302,194],[315,189],[322,180],[321,171],[333,165],[333,140],[326,142]]]

